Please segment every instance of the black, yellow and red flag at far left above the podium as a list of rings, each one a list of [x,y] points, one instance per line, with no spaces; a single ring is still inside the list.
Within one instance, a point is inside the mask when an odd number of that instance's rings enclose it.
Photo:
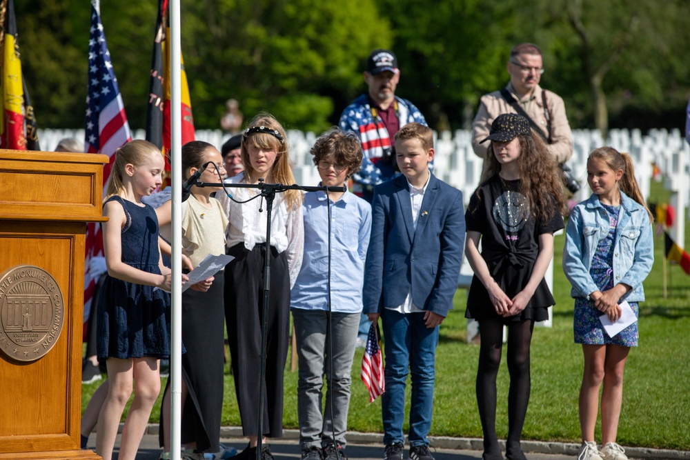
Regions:
[[[0,147],[12,150],[41,150],[34,108],[21,74],[14,1],[0,4]]]

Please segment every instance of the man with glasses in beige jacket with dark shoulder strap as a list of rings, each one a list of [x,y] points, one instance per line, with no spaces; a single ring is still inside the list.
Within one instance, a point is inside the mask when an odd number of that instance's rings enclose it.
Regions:
[[[538,134],[558,164],[565,163],[573,154],[570,125],[565,114],[563,99],[549,90],[542,90],[539,81],[544,73],[542,52],[533,43],[520,43],[511,50],[508,60],[511,81],[499,91],[484,94],[479,110],[472,122],[472,148],[478,157],[486,158],[491,123],[500,114],[524,113],[531,119],[532,130]],[[486,163],[485,163],[486,165]]]

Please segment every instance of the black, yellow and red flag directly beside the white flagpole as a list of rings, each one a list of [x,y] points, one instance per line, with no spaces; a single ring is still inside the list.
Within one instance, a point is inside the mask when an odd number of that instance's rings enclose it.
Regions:
[[[166,171],[170,172],[170,48],[167,37],[168,0],[159,0],[156,33],[151,57],[151,77],[146,112],[146,140],[161,149],[166,157]],[[184,60],[181,60],[181,106],[182,106],[182,145],[195,139],[192,102],[189,96],[187,74],[184,71]],[[164,181],[161,188],[169,185]]]

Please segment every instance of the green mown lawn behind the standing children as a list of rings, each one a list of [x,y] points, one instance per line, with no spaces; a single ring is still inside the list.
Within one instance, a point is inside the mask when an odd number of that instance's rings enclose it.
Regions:
[[[652,196],[658,197],[660,203],[667,202],[667,192],[658,184],[653,185]],[[689,233],[686,232],[684,242],[678,243],[690,251]],[[578,392],[582,348],[573,343],[573,300],[561,268],[563,245],[564,236],[556,237],[553,327],[535,328],[533,334],[532,390],[523,439],[580,442]],[[690,450],[690,277],[680,267],[670,266],[669,290],[664,299],[663,246],[663,237],[655,237],[655,263],[644,282],[647,301],[640,303],[640,346],[631,350],[625,371],[618,442],[623,446]],[[441,326],[431,426],[431,434],[437,436],[482,437],[475,399],[479,347],[465,343],[465,299],[466,291],[458,290],[455,310]],[[381,399],[368,402],[368,393],[359,379],[361,362],[362,350],[357,350],[348,429],[382,432]],[[290,371],[289,352],[284,381],[284,426],[297,428],[297,372]],[[508,424],[508,384],[504,352],[498,374],[496,414],[497,432],[503,439]],[[98,385],[82,386],[82,409]],[[225,388],[223,424],[237,426],[239,412],[227,366]],[[152,422],[158,421],[159,404],[160,399],[151,414]],[[599,430],[597,437],[600,438]]]

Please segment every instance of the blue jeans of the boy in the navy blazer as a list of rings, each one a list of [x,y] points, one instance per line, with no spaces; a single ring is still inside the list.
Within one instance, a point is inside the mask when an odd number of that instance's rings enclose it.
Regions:
[[[439,328],[424,326],[424,312],[402,314],[384,310],[381,315],[386,351],[386,392],[382,395],[384,444],[405,442],[405,381],[412,376],[410,446],[428,444],[431,429],[435,357]]]

